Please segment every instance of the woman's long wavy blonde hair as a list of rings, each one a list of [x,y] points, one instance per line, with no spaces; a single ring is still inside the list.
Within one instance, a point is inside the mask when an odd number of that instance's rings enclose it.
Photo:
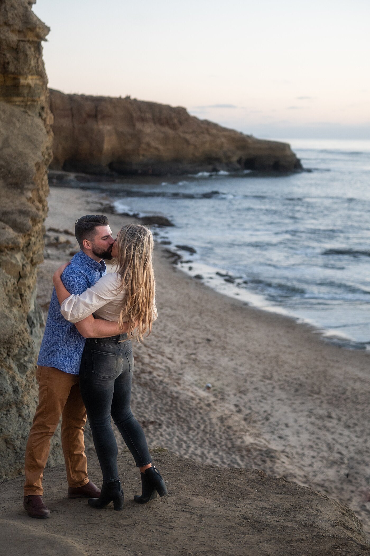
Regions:
[[[139,342],[146,332],[150,334],[154,320],[153,248],[153,236],[146,226],[127,224],[121,228],[116,265],[126,295],[118,322],[120,326],[128,322],[127,336]]]

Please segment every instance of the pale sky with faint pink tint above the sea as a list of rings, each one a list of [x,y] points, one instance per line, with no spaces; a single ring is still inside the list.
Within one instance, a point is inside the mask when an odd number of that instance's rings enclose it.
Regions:
[[[49,85],[256,137],[370,139],[369,0],[37,0]]]

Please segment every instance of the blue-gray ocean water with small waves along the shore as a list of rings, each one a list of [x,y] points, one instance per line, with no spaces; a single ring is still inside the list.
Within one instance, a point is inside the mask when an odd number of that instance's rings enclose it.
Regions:
[[[169,217],[159,239],[215,289],[369,349],[370,141],[290,144],[306,171],[125,180],[116,210]]]

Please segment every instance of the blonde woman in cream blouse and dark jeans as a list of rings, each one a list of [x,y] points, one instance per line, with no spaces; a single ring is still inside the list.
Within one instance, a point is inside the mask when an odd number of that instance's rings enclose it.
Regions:
[[[130,408],[132,371],[131,338],[142,341],[150,334],[157,317],[155,280],[152,266],[154,247],[151,231],[145,226],[122,227],[112,248],[117,272],[102,276],[81,295],[70,295],[61,280],[61,266],[53,283],[62,315],[70,322],[80,322],[91,314],[117,321],[127,333],[109,338],[88,338],[82,354],[80,389],[90,422],[92,438],[103,474],[100,498],[90,498],[93,508],[104,508],[110,502],[121,510],[124,493],[117,468],[117,443],[111,427],[111,416],[127,448],[140,468],[142,494],[134,500],[151,502],[167,494],[165,481],[152,466],[144,431]]]

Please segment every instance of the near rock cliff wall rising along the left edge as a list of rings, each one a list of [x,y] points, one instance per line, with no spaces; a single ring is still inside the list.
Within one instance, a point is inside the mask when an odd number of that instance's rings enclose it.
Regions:
[[[23,471],[37,398],[36,269],[52,116],[41,46],[49,28],[32,12],[35,1],[0,3],[0,478]]]

